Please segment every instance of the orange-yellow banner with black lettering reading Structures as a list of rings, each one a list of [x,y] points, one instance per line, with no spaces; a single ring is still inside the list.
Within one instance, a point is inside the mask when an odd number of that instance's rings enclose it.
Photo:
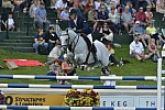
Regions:
[[[6,103],[12,106],[62,106],[64,95],[4,95]]]

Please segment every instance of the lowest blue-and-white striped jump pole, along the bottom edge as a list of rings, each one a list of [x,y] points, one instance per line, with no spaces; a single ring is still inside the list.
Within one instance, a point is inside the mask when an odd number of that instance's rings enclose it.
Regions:
[[[129,107],[55,107],[55,106],[0,106],[0,109],[11,110],[157,110],[156,108]],[[163,109],[162,109],[163,110]]]

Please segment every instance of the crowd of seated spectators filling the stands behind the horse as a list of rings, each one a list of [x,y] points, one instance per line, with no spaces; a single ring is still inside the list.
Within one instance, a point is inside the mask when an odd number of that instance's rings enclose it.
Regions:
[[[54,20],[58,20],[66,28],[72,28],[84,37],[91,33],[96,40],[107,38],[109,43],[113,43],[114,34],[133,34],[142,45],[139,48],[139,43],[134,38],[135,43],[130,44],[131,56],[145,59],[157,54],[161,57],[157,48],[165,40],[154,26],[152,10],[156,7],[156,0],[51,0],[51,6],[45,6],[46,0],[4,1],[7,2],[3,7],[11,8],[11,12],[8,22],[1,21],[1,25],[4,24],[7,28],[8,23],[8,30],[16,29],[12,18],[15,10],[28,11],[30,16],[34,18],[34,25],[37,29],[33,44],[35,54],[38,54],[40,45],[48,54],[56,42],[59,42],[61,34],[54,31],[53,24],[47,19],[46,8],[51,8],[56,13]],[[146,56],[143,54],[144,48],[148,50],[147,57],[144,57]]]

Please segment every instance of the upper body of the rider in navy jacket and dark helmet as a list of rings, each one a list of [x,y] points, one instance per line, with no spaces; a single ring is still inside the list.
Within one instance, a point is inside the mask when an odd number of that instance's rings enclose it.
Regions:
[[[90,34],[90,29],[84,18],[77,15],[77,10],[72,9],[70,11],[70,20],[69,20],[69,28],[75,30],[75,32],[84,33],[86,35]]]

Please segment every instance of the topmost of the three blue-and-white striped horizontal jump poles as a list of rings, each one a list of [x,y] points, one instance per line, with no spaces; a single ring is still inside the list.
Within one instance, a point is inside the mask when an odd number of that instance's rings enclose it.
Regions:
[[[46,76],[46,75],[0,75],[0,79],[65,79],[65,80],[157,80],[155,76]],[[165,80],[165,77],[162,77]]]

